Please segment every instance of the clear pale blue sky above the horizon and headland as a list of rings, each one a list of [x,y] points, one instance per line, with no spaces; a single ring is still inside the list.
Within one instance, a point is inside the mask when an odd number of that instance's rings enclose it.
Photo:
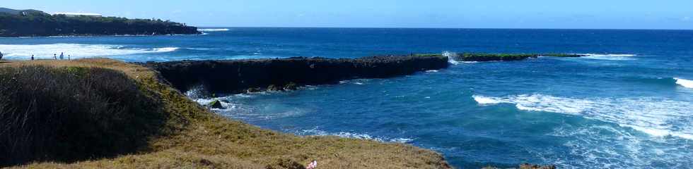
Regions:
[[[693,30],[693,0],[3,0],[0,6],[195,26]]]

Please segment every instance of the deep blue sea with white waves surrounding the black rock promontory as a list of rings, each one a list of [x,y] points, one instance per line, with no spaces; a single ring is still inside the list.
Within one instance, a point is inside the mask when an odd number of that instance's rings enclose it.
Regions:
[[[229,118],[303,135],[404,142],[458,168],[693,168],[693,31],[228,28],[201,36],[0,39],[10,59],[353,58],[577,53],[456,63],[391,79],[224,96]],[[204,103],[210,99],[199,99]]]

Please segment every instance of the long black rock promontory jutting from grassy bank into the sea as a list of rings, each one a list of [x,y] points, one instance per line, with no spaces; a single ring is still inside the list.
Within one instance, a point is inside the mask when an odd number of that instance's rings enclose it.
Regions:
[[[211,93],[296,89],[355,78],[385,78],[448,67],[444,56],[281,58],[146,63],[180,91],[202,85]]]

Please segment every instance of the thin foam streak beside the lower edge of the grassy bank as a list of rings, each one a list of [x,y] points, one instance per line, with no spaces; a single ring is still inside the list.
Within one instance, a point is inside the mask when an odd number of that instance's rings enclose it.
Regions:
[[[365,133],[354,133],[354,132],[325,132],[322,130],[318,130],[317,128],[310,129],[310,130],[301,130],[297,132],[296,134],[299,135],[309,135],[309,136],[337,136],[337,137],[344,137],[344,138],[350,138],[350,139],[370,139],[370,140],[375,140],[378,142],[399,142],[399,143],[407,143],[407,142],[412,142],[414,139],[409,139],[409,138],[388,138],[388,137],[373,137],[370,134],[365,134]]]

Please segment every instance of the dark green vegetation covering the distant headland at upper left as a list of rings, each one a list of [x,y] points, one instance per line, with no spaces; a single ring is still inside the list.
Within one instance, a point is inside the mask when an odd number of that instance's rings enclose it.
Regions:
[[[155,19],[0,13],[0,37],[199,34],[197,27]]]

